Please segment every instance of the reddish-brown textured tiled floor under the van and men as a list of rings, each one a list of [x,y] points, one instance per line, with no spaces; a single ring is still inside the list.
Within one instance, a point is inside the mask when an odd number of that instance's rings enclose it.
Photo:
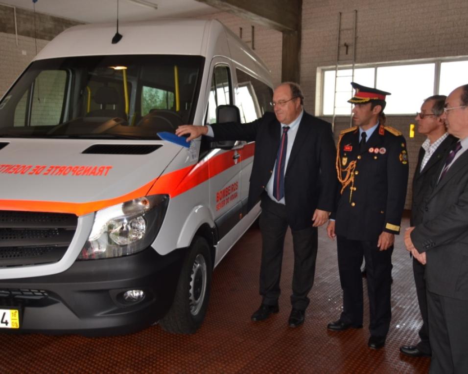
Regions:
[[[106,338],[0,334],[0,373],[427,373],[428,358],[398,352],[400,345],[417,342],[420,327],[411,260],[402,236],[393,254],[392,325],[385,347],[378,351],[367,347],[366,328],[326,329],[339,316],[341,289],[336,244],[324,228],[319,231],[315,285],[305,323],[288,328],[293,265],[289,235],[285,248],[280,312],[267,321],[250,321],[260,304],[260,233],[253,227],[215,269],[210,308],[196,334],[171,335],[159,326]]]

